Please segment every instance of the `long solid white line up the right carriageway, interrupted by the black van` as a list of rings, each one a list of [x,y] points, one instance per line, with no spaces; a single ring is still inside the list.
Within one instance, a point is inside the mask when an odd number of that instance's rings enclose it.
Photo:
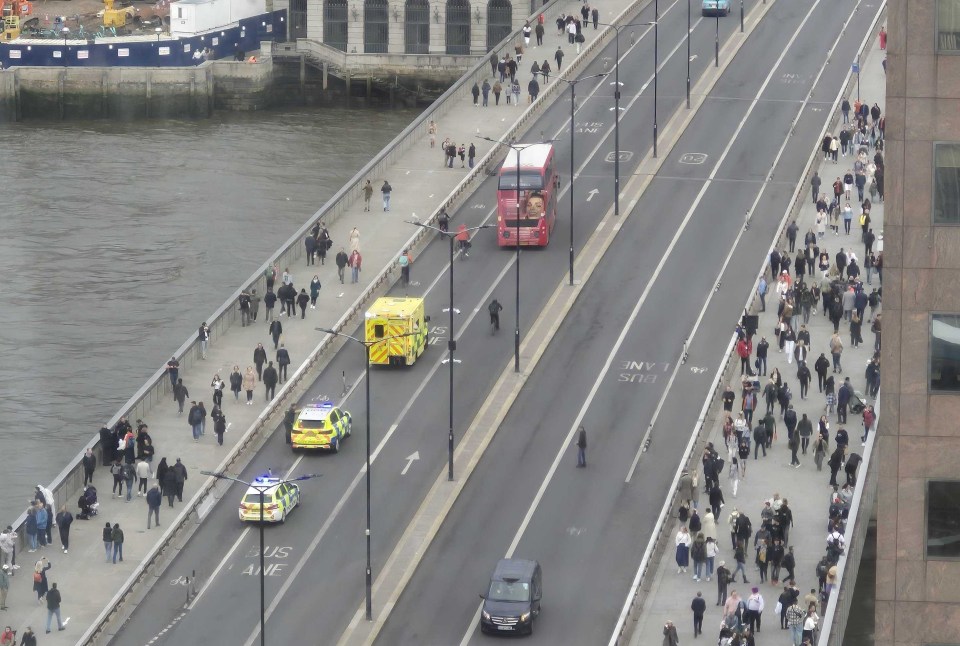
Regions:
[[[707,189],[710,187],[710,184],[713,178],[716,176],[717,172],[719,171],[720,166],[723,163],[723,160],[726,158],[727,154],[729,154],[730,149],[733,147],[733,144],[736,142],[737,137],[739,137],[740,132],[743,130],[743,127],[746,124],[747,119],[749,118],[750,114],[753,112],[753,109],[757,106],[760,95],[766,89],[767,85],[770,84],[770,80],[773,78],[774,72],[783,62],[783,59],[786,56],[787,52],[789,51],[790,47],[793,45],[794,41],[796,41],[797,37],[800,35],[801,29],[806,24],[807,20],[810,18],[810,15],[813,13],[813,10],[816,8],[817,5],[820,4],[820,2],[821,0],[816,0],[816,2],[813,4],[810,10],[807,12],[807,15],[804,17],[803,21],[800,23],[800,26],[797,28],[796,31],[794,31],[793,36],[787,42],[786,47],[784,47],[781,50],[780,56],[777,58],[777,61],[771,67],[770,72],[767,74],[767,77],[763,82],[763,85],[761,85],[760,88],[757,90],[757,93],[754,96],[753,101],[750,102],[750,107],[747,109],[747,112],[744,114],[743,118],[740,120],[740,123],[737,125],[736,130],[734,130],[733,135],[728,140],[727,145],[723,150],[723,153],[717,159],[717,163],[714,165],[713,170],[711,170],[710,175],[707,178],[707,181],[705,181],[703,183],[703,186],[700,187],[700,191],[697,193],[696,199],[694,199],[693,204],[691,204],[690,208],[687,210],[687,214],[684,216],[683,222],[677,228],[677,231],[673,235],[673,239],[670,241],[670,245],[667,247],[666,251],[664,251],[663,256],[661,256],[660,262],[657,264],[657,268],[653,272],[653,276],[651,276],[650,280],[647,281],[647,286],[644,288],[643,293],[640,295],[640,299],[637,301],[636,305],[634,305],[633,311],[630,312],[630,316],[627,319],[627,324],[620,331],[620,336],[617,338],[616,343],[614,344],[613,348],[610,350],[610,353],[607,355],[607,359],[604,362],[603,367],[600,369],[600,372],[598,373],[597,378],[594,381],[589,394],[587,395],[587,398],[584,400],[583,406],[580,407],[580,412],[577,413],[576,419],[574,420],[573,424],[570,425],[570,430],[567,432],[567,435],[564,438],[564,440],[560,443],[560,448],[557,450],[557,455],[553,460],[553,464],[550,465],[550,469],[547,471],[546,477],[543,479],[543,482],[540,484],[540,488],[537,491],[536,496],[534,496],[533,501],[530,503],[530,507],[527,509],[527,513],[524,516],[523,521],[520,523],[520,527],[517,529],[517,532],[513,537],[513,541],[510,543],[510,547],[507,549],[505,558],[511,558],[513,556],[514,551],[517,549],[517,545],[519,545],[520,539],[523,537],[523,534],[526,532],[527,526],[530,524],[530,520],[533,518],[534,512],[537,510],[537,507],[540,505],[540,501],[543,499],[543,496],[546,493],[547,487],[550,485],[554,475],[556,474],[557,467],[560,465],[560,461],[563,459],[564,454],[569,452],[569,447],[573,443],[573,437],[577,432],[577,428],[579,427],[580,423],[583,421],[583,418],[586,416],[588,408],[593,403],[593,399],[596,397],[596,394],[600,389],[600,383],[603,381],[603,378],[606,376],[607,371],[610,369],[610,366],[613,364],[614,357],[616,356],[617,352],[619,352],[620,346],[622,346],[623,342],[626,340],[626,337],[630,331],[630,328],[633,326],[634,322],[637,319],[637,316],[640,314],[640,308],[643,306],[644,302],[647,300],[647,296],[650,294],[650,291],[653,288],[653,285],[657,282],[657,278],[659,277],[660,272],[663,271],[663,267],[666,265],[667,259],[673,253],[673,249],[674,247],[676,247],[677,242],[680,240],[681,234],[683,233],[684,229],[686,229],[691,218],[693,217],[694,212],[699,207],[700,202],[703,200],[703,196],[706,194]],[[474,613],[474,617],[470,622],[470,626],[467,628],[467,631],[464,634],[463,639],[460,641],[461,646],[466,646],[467,644],[469,644],[470,639],[472,638],[474,632],[476,632],[476,626],[480,618],[480,610],[482,607],[483,607],[482,604],[477,606],[477,610]]]

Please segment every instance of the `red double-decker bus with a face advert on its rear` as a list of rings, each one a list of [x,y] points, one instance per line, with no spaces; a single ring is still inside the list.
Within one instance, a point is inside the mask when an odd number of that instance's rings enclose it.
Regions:
[[[553,145],[529,144],[517,150],[511,148],[500,167],[499,179],[497,243],[501,247],[517,244],[545,247],[557,222],[557,189],[560,186]]]

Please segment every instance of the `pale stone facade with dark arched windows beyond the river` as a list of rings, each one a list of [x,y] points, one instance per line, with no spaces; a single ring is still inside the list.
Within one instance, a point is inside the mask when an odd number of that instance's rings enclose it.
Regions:
[[[291,36],[359,54],[479,55],[536,0],[291,0]]]

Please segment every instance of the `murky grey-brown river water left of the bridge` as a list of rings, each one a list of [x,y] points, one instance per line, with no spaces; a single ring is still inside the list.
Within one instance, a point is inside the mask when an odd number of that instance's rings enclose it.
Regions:
[[[0,522],[417,114],[0,128]]]

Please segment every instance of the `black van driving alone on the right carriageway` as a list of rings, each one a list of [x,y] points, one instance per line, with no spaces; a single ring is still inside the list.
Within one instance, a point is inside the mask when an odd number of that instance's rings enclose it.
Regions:
[[[532,634],[533,620],[540,615],[541,577],[536,561],[501,559],[490,577],[490,587],[480,595],[480,632]]]

